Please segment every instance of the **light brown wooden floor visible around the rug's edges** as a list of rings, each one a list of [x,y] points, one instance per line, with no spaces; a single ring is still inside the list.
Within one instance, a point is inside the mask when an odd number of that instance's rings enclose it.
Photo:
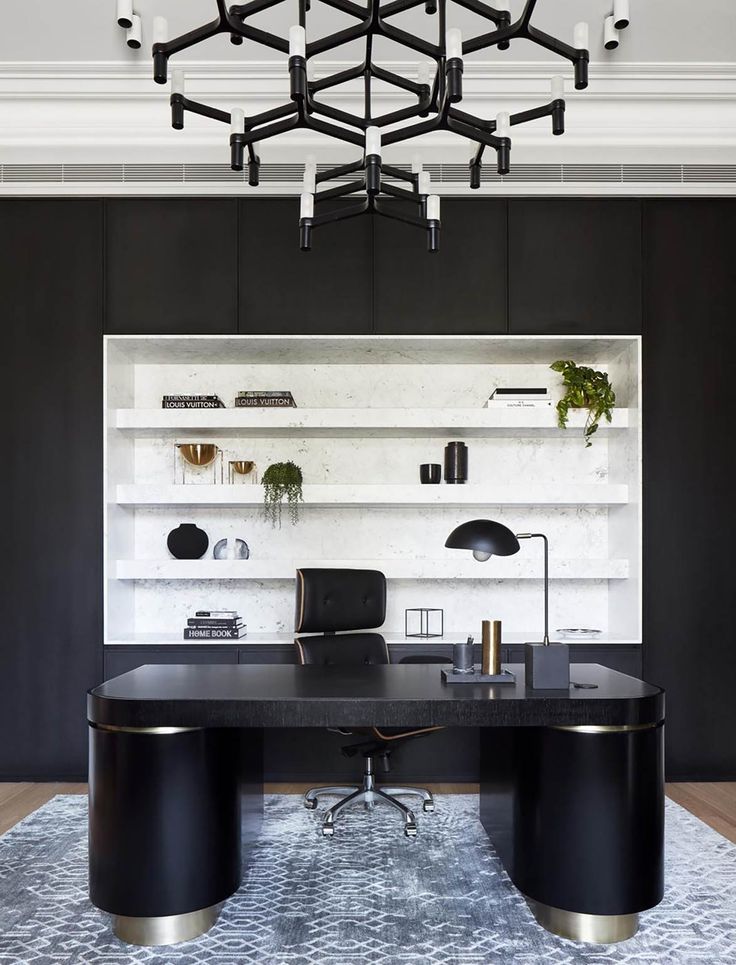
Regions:
[[[269,793],[301,794],[306,784],[267,784]],[[436,794],[477,793],[477,784],[434,784]],[[0,834],[56,794],[86,794],[86,784],[0,784]],[[736,781],[668,784],[667,796],[736,844]]]

